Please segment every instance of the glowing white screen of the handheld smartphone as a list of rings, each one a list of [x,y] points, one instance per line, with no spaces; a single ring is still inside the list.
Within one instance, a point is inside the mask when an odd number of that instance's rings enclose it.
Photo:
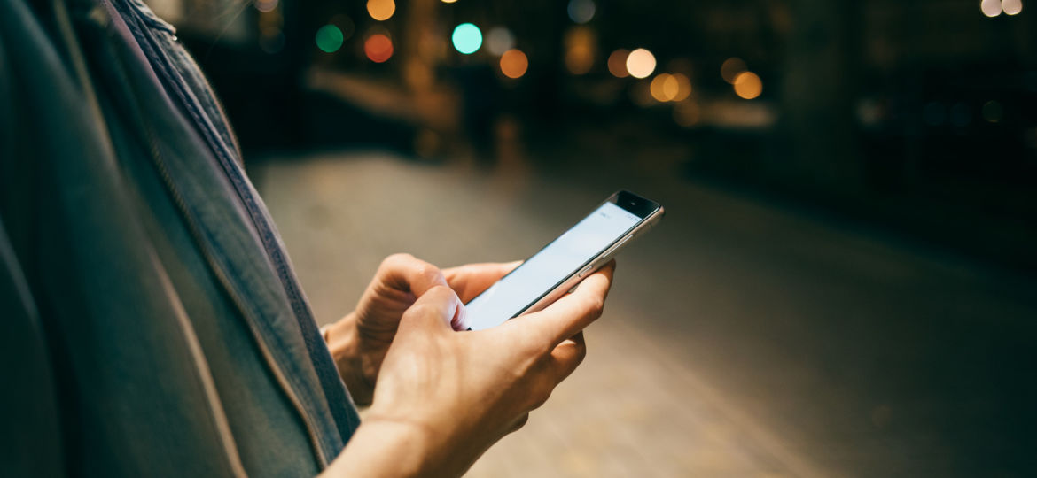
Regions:
[[[510,274],[466,304],[472,330],[503,324],[623,237],[641,218],[605,203]]]

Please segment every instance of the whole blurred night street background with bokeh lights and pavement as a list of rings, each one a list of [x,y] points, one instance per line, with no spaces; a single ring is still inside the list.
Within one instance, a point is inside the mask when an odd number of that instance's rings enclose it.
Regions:
[[[1037,476],[1037,4],[148,3],[323,323],[390,253],[667,208],[469,476]]]

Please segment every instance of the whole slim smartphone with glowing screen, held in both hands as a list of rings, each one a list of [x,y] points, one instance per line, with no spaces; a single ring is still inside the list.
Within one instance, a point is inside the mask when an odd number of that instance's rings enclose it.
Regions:
[[[488,329],[560,299],[663,218],[658,203],[620,190],[465,304],[469,330]]]

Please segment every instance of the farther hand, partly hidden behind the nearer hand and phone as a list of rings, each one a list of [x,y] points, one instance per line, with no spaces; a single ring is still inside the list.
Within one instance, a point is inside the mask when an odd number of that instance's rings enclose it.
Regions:
[[[354,401],[371,402],[382,360],[396,335],[400,317],[418,297],[433,287],[449,286],[463,301],[468,301],[517,264],[471,264],[440,271],[411,255],[386,258],[357,309],[333,324],[325,336]],[[452,326],[455,330],[467,329],[459,322]]]

